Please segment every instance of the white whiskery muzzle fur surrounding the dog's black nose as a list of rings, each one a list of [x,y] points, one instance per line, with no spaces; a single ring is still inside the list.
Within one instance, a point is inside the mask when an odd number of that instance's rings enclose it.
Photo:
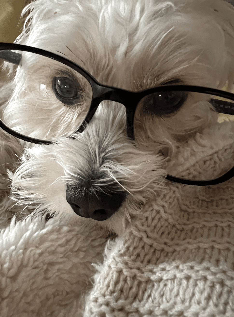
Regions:
[[[103,121],[98,120],[100,112],[106,119],[105,129]],[[124,120],[123,112],[100,107],[77,139],[60,138],[59,144],[29,148],[22,158],[24,164],[11,174],[19,202],[37,204],[37,214],[45,213],[46,207],[47,212],[59,217],[104,226],[120,234],[146,200],[155,198],[165,175],[160,155],[138,150],[126,137]],[[115,182],[129,193],[120,210],[105,221],[77,216],[66,201],[66,184],[87,175],[96,178],[90,188],[93,193],[105,191],[105,186]]]

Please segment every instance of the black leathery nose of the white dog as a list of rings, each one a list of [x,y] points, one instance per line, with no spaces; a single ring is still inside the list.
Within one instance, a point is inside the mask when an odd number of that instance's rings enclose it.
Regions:
[[[68,185],[66,199],[75,213],[81,217],[95,220],[106,220],[120,208],[126,193],[106,194],[98,192],[97,196],[84,192],[84,187],[76,184]]]

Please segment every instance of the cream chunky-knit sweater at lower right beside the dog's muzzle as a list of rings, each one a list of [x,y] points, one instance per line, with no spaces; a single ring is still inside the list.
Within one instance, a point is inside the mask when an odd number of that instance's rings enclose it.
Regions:
[[[234,165],[231,126],[218,129],[218,139],[207,130],[181,149],[203,159],[178,174],[202,177],[204,162],[207,175]],[[204,187],[167,181],[124,236],[107,243],[83,316],[233,317],[233,193],[233,178]]]

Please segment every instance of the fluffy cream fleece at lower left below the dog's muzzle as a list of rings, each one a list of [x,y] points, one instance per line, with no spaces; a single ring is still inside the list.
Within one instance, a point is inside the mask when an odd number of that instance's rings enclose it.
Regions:
[[[0,316],[65,316],[92,287],[91,263],[102,261],[103,230],[58,226],[55,219],[15,222],[0,231]]]

